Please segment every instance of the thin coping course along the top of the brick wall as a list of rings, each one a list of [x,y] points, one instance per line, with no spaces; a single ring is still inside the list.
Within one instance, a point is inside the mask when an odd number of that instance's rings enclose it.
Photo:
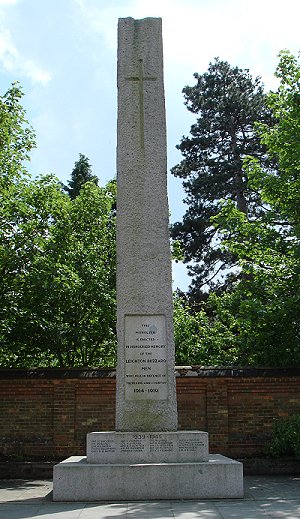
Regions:
[[[200,367],[176,366],[178,377],[212,377],[212,378],[243,378],[243,377],[300,377],[300,368],[235,368],[235,367]],[[0,368],[0,380],[16,379],[91,379],[115,378],[114,368],[32,368],[14,369]]]

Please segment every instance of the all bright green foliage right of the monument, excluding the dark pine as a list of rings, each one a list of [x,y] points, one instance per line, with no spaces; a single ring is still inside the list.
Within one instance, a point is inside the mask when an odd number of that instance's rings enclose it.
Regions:
[[[276,74],[280,87],[266,99],[273,125],[254,125],[266,155],[247,156],[243,161],[247,189],[259,194],[262,210],[245,212],[235,199],[224,196],[218,212],[211,215],[221,248],[235,258],[239,275],[229,291],[218,296],[211,293],[199,312],[185,305],[179,311],[175,308],[181,364],[300,366],[297,59],[282,52]],[[266,167],[272,161],[277,169]]]

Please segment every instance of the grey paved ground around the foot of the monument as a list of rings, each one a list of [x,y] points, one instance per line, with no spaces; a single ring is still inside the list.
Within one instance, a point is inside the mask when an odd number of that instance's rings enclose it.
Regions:
[[[300,518],[300,476],[245,477],[244,499],[53,503],[51,481],[0,480],[0,519]]]

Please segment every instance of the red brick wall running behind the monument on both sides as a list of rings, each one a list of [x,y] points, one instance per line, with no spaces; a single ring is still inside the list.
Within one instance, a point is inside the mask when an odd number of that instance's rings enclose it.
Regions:
[[[300,414],[300,369],[189,370],[177,377],[179,428],[209,433],[210,451],[261,454],[274,418]],[[0,454],[85,453],[91,431],[114,430],[108,370],[0,370]]]

